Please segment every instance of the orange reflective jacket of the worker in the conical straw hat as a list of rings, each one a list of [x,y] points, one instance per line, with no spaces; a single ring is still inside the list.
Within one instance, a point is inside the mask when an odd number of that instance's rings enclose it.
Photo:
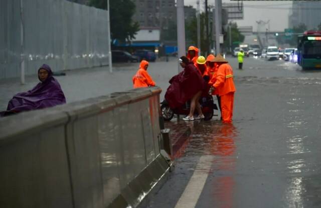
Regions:
[[[229,64],[224,63],[218,67],[216,81],[213,86],[218,90],[219,96],[236,91],[233,81],[233,69]]]

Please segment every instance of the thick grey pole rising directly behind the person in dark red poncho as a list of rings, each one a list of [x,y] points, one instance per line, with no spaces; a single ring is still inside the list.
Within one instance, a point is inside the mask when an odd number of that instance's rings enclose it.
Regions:
[[[177,42],[178,56],[185,56],[185,18],[184,18],[184,0],[177,0]],[[178,65],[179,72],[183,71],[180,64]]]

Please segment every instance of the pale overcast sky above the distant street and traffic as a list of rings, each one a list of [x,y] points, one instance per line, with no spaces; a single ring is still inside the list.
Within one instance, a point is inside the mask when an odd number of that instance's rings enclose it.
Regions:
[[[200,0],[204,10],[204,0]],[[237,1],[223,0],[223,3],[237,3]],[[184,0],[185,5],[196,8],[196,0]],[[209,5],[215,5],[215,0],[208,0]],[[239,26],[253,26],[256,31],[256,21],[270,20],[270,31],[284,31],[288,27],[288,15],[292,8],[292,1],[243,1],[244,20],[234,21]],[[268,8],[268,9],[267,9]]]

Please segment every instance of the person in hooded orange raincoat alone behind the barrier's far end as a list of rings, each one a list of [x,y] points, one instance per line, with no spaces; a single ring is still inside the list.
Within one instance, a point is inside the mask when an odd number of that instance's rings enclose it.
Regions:
[[[156,83],[152,80],[150,75],[147,72],[148,62],[142,60],[139,65],[139,69],[136,74],[132,77],[132,82],[134,84],[134,88],[138,87],[148,87],[155,86]]]

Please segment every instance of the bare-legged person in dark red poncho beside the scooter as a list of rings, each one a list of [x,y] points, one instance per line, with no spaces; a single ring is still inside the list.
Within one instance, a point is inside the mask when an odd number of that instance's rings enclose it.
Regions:
[[[202,90],[206,87],[206,83],[201,76],[201,73],[196,69],[194,63],[186,56],[180,58],[180,64],[184,70],[173,76],[170,80],[171,85],[168,87],[165,99],[169,102],[172,109],[176,109],[191,100],[190,114],[184,118],[185,121],[194,121],[194,111],[197,109],[199,116],[195,119],[200,119],[202,116],[201,105],[198,102]]]

